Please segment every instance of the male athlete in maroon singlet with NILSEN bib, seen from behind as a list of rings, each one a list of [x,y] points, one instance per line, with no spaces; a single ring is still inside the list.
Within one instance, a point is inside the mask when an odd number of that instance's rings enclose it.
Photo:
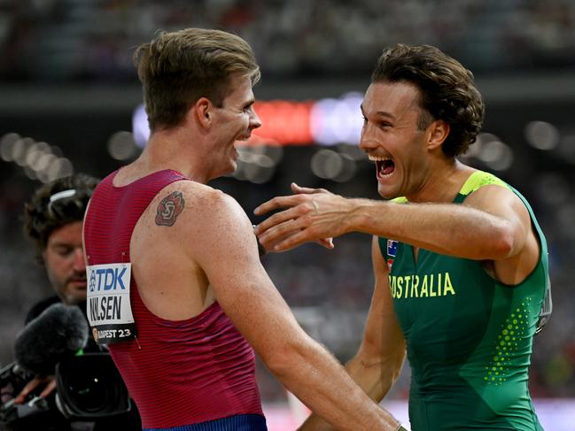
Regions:
[[[159,34],[136,62],[152,133],[95,191],[84,245],[90,325],[145,429],[265,430],[255,350],[333,426],[395,431],[398,422],[299,327],[261,266],[244,210],[206,186],[236,169],[235,142],[260,127],[250,46],[189,28]]]

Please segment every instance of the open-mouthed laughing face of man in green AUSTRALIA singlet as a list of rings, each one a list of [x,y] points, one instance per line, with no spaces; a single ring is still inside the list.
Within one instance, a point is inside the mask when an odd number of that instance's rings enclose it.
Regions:
[[[429,127],[418,127],[419,97],[408,82],[373,82],[361,104],[360,148],[376,163],[377,191],[387,199],[416,193],[430,173]]]

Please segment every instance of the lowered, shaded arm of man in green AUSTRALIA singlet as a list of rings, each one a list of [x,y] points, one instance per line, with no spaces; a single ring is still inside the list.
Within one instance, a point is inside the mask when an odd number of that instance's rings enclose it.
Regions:
[[[400,374],[405,359],[405,339],[393,311],[384,258],[374,237],[371,245],[376,286],[361,346],[346,364],[346,371],[371,399],[379,402]],[[313,414],[301,430],[327,430],[324,420]]]

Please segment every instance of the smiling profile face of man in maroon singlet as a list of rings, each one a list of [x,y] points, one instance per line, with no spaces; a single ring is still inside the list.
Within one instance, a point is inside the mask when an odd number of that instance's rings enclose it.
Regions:
[[[236,170],[238,158],[234,144],[247,141],[252,130],[261,126],[260,118],[253,111],[255,99],[249,76],[230,78],[228,96],[221,107],[214,107],[214,139],[210,159],[213,161],[209,178],[217,178]]]

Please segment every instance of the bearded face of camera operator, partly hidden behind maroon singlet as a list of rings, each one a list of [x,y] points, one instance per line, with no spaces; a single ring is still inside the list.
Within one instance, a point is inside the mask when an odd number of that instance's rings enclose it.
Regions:
[[[86,300],[82,221],[75,221],[52,232],[43,251],[43,260],[52,287],[64,304],[79,304]]]

